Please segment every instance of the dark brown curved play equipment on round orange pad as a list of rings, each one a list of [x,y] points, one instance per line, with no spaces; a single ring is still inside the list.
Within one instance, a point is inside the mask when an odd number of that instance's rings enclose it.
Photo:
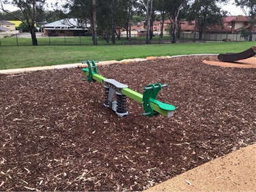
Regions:
[[[242,59],[248,59],[250,57],[255,56],[255,54],[256,54],[256,46],[253,46],[243,52],[218,54],[218,59],[221,61],[233,62],[233,61],[239,61]]]

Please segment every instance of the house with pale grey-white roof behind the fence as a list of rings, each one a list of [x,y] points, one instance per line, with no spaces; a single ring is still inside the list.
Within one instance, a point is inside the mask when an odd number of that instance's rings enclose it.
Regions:
[[[61,19],[43,25],[44,35],[47,36],[87,36],[89,35],[89,25],[79,22],[79,19]]]

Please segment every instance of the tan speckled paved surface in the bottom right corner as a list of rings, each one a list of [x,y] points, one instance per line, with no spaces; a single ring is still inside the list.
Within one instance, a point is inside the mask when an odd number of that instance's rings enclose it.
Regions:
[[[256,191],[256,144],[218,157],[145,191]]]

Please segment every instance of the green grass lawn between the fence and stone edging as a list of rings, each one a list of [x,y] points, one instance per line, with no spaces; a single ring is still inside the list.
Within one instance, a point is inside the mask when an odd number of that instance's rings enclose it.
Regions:
[[[79,38],[79,37],[78,37]],[[15,39],[15,38],[14,38]],[[0,69],[81,63],[85,60],[117,60],[148,56],[241,52],[255,42],[214,42],[109,46],[1,46]]]

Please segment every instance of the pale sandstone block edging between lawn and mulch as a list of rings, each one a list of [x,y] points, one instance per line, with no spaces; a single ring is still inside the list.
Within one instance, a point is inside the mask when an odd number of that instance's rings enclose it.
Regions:
[[[185,55],[177,55],[177,56],[161,56],[161,57],[147,57],[145,59],[137,58],[137,59],[123,59],[122,61],[100,61],[97,63],[98,66],[101,65],[111,65],[111,64],[122,64],[122,63],[131,63],[131,62],[140,62],[140,61],[148,61],[154,59],[168,59],[172,57],[185,57],[185,56],[195,56],[195,55],[218,55],[218,54],[185,54]],[[44,67],[27,67],[27,68],[20,68],[20,69],[3,69],[0,70],[0,74],[23,74],[32,71],[42,71],[42,70],[53,70],[53,69],[69,69],[69,68],[76,68],[76,67],[87,67],[87,64],[82,63],[74,63],[74,64],[66,64],[66,65],[51,65],[51,66],[44,66]]]

